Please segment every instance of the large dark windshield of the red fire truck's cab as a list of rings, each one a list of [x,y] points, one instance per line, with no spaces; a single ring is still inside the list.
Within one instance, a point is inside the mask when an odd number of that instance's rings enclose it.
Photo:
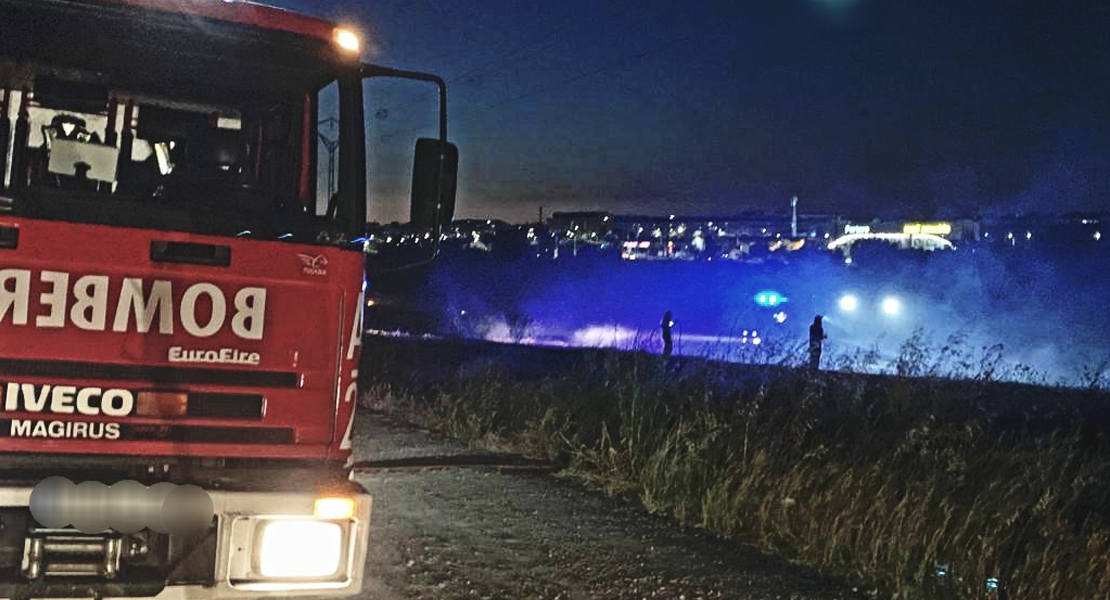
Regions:
[[[326,43],[84,2],[3,2],[0,18],[0,120],[10,139],[0,209],[343,238],[336,204],[345,182],[364,175],[334,154],[362,143],[362,123],[340,109],[361,84],[345,84],[356,71]]]

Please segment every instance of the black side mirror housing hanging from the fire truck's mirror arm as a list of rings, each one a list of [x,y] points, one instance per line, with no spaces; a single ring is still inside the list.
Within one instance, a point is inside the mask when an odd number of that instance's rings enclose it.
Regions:
[[[458,182],[458,149],[455,144],[421,138],[413,156],[412,224],[434,230],[455,216],[455,189]],[[438,214],[436,206],[438,205]]]

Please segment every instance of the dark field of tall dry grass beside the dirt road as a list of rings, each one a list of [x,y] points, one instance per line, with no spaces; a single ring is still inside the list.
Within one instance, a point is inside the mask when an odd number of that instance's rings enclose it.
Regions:
[[[989,356],[912,340],[885,376],[390,338],[363,356],[372,408],[556,461],[882,598],[1110,598],[1097,377],[999,383]]]

